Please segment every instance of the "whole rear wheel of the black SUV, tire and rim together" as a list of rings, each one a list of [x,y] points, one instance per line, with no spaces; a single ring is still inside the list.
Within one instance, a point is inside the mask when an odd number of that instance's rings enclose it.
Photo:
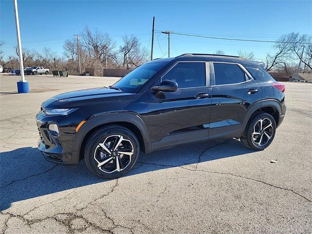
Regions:
[[[250,149],[264,150],[272,143],[275,131],[274,118],[268,113],[259,112],[251,117],[240,140]]]

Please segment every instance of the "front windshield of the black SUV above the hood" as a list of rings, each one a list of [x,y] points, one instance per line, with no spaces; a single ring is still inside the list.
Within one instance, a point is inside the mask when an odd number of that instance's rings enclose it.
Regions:
[[[152,78],[168,62],[145,63],[121,78],[113,85],[125,92],[135,93],[146,81]]]

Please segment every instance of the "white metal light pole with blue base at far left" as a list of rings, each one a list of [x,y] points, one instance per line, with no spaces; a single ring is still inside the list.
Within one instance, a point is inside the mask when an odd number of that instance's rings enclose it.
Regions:
[[[19,59],[20,59],[20,81],[18,82],[18,92],[28,93],[29,84],[25,80],[23,53],[22,53],[21,41],[20,41],[20,20],[19,20],[18,2],[17,0],[13,0],[13,2],[14,2],[14,10],[15,10],[16,36],[18,39],[18,47],[19,47],[18,49],[19,49]]]

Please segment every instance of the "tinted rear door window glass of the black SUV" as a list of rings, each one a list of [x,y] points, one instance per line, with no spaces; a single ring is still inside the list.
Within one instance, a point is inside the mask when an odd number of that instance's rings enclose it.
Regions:
[[[245,73],[237,64],[214,63],[215,85],[244,82]]]

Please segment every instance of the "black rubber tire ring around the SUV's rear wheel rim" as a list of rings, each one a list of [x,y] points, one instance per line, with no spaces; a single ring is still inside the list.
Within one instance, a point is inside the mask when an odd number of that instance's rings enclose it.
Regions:
[[[259,121],[259,119],[261,118],[268,118],[272,121],[272,126],[273,126],[273,133],[272,133],[272,137],[271,139],[268,141],[267,144],[265,144],[264,146],[258,146],[258,145],[255,145],[253,140],[252,140],[252,134],[253,134],[253,131],[254,131],[254,124]],[[275,120],[274,118],[268,114],[268,113],[261,113],[257,116],[254,117],[254,119],[251,121],[249,127],[248,127],[248,132],[247,132],[247,141],[248,141],[248,144],[254,148],[255,150],[264,150],[265,148],[267,148],[273,141],[274,137],[275,137],[275,132],[276,132],[276,123],[275,123]]]

